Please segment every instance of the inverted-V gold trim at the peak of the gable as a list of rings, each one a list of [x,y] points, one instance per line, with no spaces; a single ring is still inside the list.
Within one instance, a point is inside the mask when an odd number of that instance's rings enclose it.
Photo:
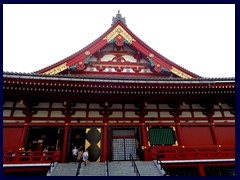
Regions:
[[[115,27],[106,37],[103,38],[103,40],[107,40],[107,42],[109,42],[113,40],[118,34],[121,34],[130,44],[132,44],[133,41],[136,41],[120,25]]]

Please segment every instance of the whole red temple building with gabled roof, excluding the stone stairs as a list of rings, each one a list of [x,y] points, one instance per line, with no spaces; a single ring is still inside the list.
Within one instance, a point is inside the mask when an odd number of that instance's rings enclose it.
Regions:
[[[88,149],[90,162],[132,154],[173,176],[234,175],[235,78],[201,77],[139,37],[118,12],[69,57],[33,73],[3,72],[5,175],[68,163],[74,146]]]

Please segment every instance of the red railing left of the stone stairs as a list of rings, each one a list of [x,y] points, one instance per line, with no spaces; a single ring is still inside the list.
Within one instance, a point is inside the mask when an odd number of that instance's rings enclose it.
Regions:
[[[33,152],[4,152],[3,164],[32,164],[32,163],[51,163],[53,160],[59,161],[60,151]]]

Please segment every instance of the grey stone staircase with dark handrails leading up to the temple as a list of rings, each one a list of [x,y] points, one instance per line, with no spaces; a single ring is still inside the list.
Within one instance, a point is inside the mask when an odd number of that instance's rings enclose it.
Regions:
[[[154,161],[135,161],[140,176],[162,176],[165,172]],[[76,176],[78,164],[57,163],[47,176]],[[107,176],[105,162],[90,162],[87,166],[81,164],[78,176]],[[109,176],[136,176],[130,161],[108,162]]]

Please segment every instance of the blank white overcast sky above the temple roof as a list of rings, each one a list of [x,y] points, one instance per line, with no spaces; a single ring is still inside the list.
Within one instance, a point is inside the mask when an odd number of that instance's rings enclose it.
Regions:
[[[34,72],[111,27],[118,10],[152,49],[202,77],[235,77],[234,4],[3,5],[3,71]]]

